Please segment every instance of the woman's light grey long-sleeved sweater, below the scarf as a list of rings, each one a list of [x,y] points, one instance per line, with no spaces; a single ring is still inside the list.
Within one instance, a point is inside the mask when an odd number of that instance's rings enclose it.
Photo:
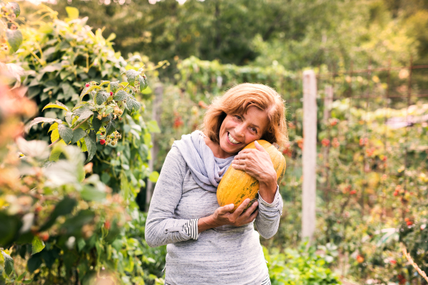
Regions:
[[[277,191],[272,204],[261,197],[258,201],[255,223],[260,235],[270,238],[280,222],[282,197]],[[265,280],[267,266],[253,222],[208,229],[198,240],[186,234],[184,224],[207,217],[218,207],[216,194],[196,184],[183,156],[173,146],[156,183],[146,221],[147,244],[168,244],[165,283],[260,285]]]

